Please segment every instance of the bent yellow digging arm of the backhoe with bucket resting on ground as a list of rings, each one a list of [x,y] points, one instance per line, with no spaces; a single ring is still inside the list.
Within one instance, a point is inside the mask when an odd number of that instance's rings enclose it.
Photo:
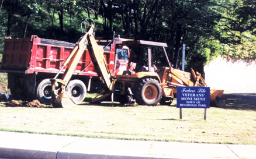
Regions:
[[[71,54],[64,61],[60,71],[57,73],[54,79],[51,79],[51,104],[54,107],[73,107],[75,104],[77,104],[74,100],[72,100],[71,95],[65,91],[65,87],[70,81],[71,76],[78,65],[79,59],[81,59],[82,54],[87,48],[98,76],[102,79],[102,82],[105,83],[106,88],[110,88],[111,74],[109,72],[105,56],[103,55],[103,48],[96,43],[93,33],[94,25],[92,25],[85,35],[82,36],[82,38],[78,41],[74,50],[72,50]],[[65,69],[61,79],[57,79],[58,74],[66,66],[67,68]]]

